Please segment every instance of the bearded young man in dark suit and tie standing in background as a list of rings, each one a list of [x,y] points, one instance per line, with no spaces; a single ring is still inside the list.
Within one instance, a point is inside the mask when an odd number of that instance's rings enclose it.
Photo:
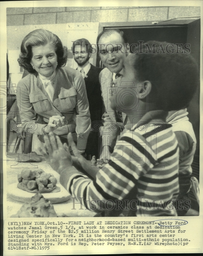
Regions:
[[[78,64],[77,70],[81,72],[87,91],[87,98],[89,102],[90,118],[92,123],[92,129],[90,131],[86,154],[99,157],[99,136],[98,130],[94,131],[94,122],[101,121],[102,118],[102,97],[101,87],[99,83],[99,73],[102,68],[95,67],[89,63],[89,59],[92,55],[90,42],[86,38],[77,39],[73,41],[72,52],[74,59]]]

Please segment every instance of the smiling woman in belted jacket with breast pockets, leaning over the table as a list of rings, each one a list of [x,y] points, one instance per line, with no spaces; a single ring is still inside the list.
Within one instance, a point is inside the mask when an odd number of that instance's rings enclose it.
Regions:
[[[20,118],[23,129],[42,142],[51,131],[65,142],[71,132],[85,153],[91,123],[85,82],[64,67],[66,61],[67,48],[52,32],[37,29],[23,39],[18,62],[29,74],[18,83]]]

